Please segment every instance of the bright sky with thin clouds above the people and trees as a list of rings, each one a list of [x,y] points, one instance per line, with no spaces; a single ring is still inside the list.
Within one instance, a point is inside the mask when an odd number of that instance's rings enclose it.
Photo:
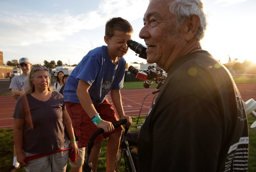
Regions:
[[[128,20],[139,38],[148,0],[0,0],[0,51],[4,63],[27,57],[32,64],[78,64],[104,42],[112,17]],[[222,63],[255,61],[256,1],[203,0],[208,26],[201,45]],[[129,50],[127,63],[146,63]]]

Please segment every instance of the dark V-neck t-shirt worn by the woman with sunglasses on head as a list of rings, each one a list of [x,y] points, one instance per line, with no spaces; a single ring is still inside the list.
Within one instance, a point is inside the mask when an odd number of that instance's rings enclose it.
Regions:
[[[40,101],[30,94],[17,100],[13,117],[25,119],[24,151],[47,154],[63,147],[66,135],[62,110],[66,110],[65,102],[57,91],[53,91],[47,101]]]

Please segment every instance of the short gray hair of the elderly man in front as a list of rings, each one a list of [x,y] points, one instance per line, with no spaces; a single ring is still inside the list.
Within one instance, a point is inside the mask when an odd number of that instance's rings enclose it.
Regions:
[[[152,0],[150,0],[152,1]],[[203,2],[201,0],[166,0],[169,1],[169,10],[177,18],[177,27],[180,27],[182,22],[192,16],[197,15],[200,18],[196,38],[201,40],[207,27],[206,15],[203,11]]]

